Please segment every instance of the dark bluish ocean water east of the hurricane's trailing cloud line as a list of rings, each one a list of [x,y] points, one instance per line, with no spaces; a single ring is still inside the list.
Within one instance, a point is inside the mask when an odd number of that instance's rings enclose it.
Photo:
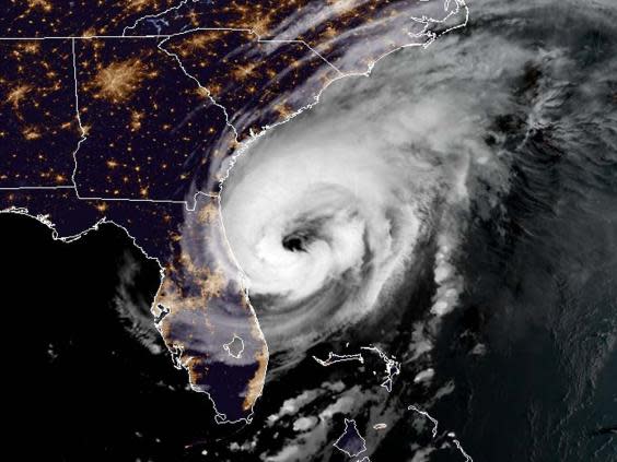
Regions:
[[[521,149],[507,215],[475,222],[465,313],[443,335],[468,396],[438,415],[457,410],[475,460],[617,460],[601,431],[617,416],[617,157],[550,142]],[[456,353],[470,337],[476,360]]]

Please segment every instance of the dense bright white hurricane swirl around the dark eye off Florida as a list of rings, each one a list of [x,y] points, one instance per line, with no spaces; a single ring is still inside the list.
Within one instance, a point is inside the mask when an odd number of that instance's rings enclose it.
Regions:
[[[335,83],[253,143],[223,185],[226,237],[271,352],[306,348],[375,310],[431,239],[433,310],[455,303],[450,260],[469,169],[496,159],[469,117],[476,97],[408,73],[395,62],[388,86],[379,73]]]

